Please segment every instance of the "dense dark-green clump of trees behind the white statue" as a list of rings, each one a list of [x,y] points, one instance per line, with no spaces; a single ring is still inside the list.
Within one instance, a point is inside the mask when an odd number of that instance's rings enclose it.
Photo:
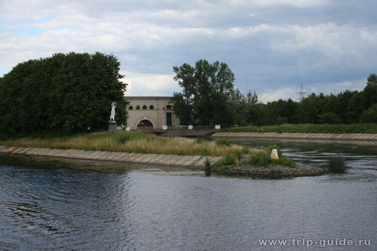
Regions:
[[[104,130],[112,101],[118,124],[127,122],[127,84],[120,63],[97,52],[57,53],[29,60],[0,78],[0,131]]]

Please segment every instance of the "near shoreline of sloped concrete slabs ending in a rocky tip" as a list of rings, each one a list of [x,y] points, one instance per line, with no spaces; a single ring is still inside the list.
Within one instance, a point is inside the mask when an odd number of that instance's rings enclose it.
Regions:
[[[13,151],[10,152],[10,149]],[[195,168],[204,171],[211,171],[214,174],[229,176],[247,176],[252,178],[293,178],[304,176],[319,176],[329,172],[320,167],[305,165],[296,162],[295,168],[281,165],[269,165],[268,167],[252,166],[241,164],[240,166],[230,165],[216,167],[216,163],[224,157],[219,156],[196,156],[196,155],[168,155],[168,154],[144,154],[128,152],[108,152],[78,149],[51,149],[51,148],[29,148],[29,147],[6,147],[0,145],[0,153],[15,155],[32,155],[52,158],[110,161],[117,163],[132,163],[143,165],[157,165],[169,167]],[[206,169],[206,159],[211,163],[211,169]],[[275,170],[275,172],[271,172]]]

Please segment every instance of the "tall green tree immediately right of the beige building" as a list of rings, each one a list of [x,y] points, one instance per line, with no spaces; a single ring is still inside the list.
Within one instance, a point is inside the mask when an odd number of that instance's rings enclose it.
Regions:
[[[174,112],[183,124],[231,124],[230,114],[236,112],[229,105],[234,73],[227,64],[198,60],[173,67],[174,80],[182,88],[174,92]]]

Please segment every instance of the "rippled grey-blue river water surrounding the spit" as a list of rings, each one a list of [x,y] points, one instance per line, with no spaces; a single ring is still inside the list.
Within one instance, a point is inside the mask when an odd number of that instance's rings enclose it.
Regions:
[[[351,168],[264,180],[2,154],[0,249],[377,249],[377,146],[240,143],[319,166],[340,153]],[[287,242],[260,243],[274,239]]]

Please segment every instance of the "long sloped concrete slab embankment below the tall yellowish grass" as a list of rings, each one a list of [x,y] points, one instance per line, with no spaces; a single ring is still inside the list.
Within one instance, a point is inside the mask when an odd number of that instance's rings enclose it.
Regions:
[[[0,146],[0,153],[36,155],[58,158],[71,158],[83,160],[116,161],[125,163],[140,163],[151,165],[164,165],[175,167],[193,167],[203,169],[206,158],[211,164],[215,164],[222,157],[218,156],[194,156],[194,155],[172,155],[172,154],[142,154],[125,152],[106,151],[85,151],[77,149],[50,149],[50,148],[30,148],[30,147],[6,147]]]

